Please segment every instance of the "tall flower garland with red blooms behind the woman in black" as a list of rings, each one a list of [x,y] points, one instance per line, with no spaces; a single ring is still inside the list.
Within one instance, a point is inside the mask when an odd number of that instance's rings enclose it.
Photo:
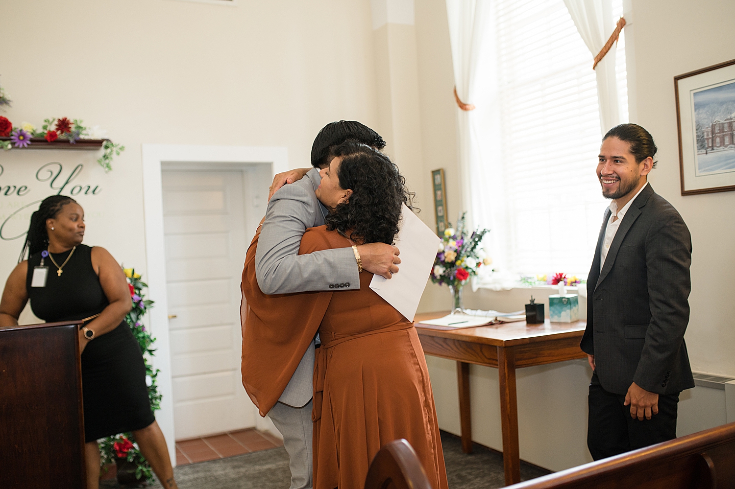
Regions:
[[[148,385],[148,399],[151,400],[151,410],[157,411],[161,408],[161,394],[158,392],[158,383],[156,377],[159,370],[154,370],[151,365],[150,357],[154,355],[155,349],[151,348],[155,338],[146,330],[141,320],[143,316],[153,305],[152,300],[144,299],[143,288],[148,285],[140,280],[140,274],[135,273],[135,269],[123,269],[127,278],[128,287],[130,289],[130,297],[133,301],[131,311],[125,316],[133,336],[140,346],[140,352],[143,353],[143,361],[146,363],[146,384]],[[101,453],[101,464],[107,466],[110,463],[118,465],[118,482],[121,476],[121,467],[127,462],[135,467],[135,479],[145,482],[153,480],[153,471],[151,466],[135,442],[132,433],[121,433],[120,435],[110,436],[99,441]]]

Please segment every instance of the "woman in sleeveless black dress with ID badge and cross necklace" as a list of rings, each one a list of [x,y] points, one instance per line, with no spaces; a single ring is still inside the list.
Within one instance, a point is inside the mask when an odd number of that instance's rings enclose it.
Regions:
[[[79,330],[85,408],[87,488],[99,485],[98,438],[132,432],[140,452],[164,488],[176,488],[168,448],[151,411],[146,368],[125,322],[132,307],[128,283],[102,247],[82,245],[84,210],[75,200],[52,195],[31,217],[29,258],[10,274],[0,302],[0,326],[18,324],[31,300],[46,322],[86,319]],[[42,264],[43,261],[43,264]],[[48,267],[46,280],[35,267]]]

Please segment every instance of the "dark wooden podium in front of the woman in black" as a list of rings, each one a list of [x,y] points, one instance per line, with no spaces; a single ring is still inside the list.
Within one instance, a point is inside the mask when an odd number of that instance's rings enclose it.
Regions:
[[[0,327],[0,488],[85,488],[79,324]]]

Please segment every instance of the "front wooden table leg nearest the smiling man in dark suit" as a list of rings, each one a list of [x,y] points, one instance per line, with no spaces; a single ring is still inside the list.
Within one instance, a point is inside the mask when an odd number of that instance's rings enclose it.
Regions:
[[[515,394],[515,354],[512,348],[498,347],[498,380],[501,391],[503,426],[503,468],[506,485],[520,482],[518,450],[518,405]]]

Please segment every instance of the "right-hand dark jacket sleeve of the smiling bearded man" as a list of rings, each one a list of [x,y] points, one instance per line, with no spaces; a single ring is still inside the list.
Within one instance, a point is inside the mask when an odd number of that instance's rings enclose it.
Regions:
[[[646,236],[646,271],[651,319],[633,380],[646,391],[664,394],[689,324],[689,265],[692,239],[678,214],[661,216]]]

